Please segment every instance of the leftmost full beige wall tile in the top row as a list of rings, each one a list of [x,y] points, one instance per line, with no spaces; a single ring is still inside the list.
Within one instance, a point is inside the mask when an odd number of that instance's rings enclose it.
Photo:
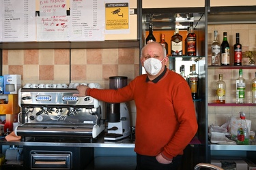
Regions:
[[[24,64],[24,50],[9,50],[8,65],[23,65]]]

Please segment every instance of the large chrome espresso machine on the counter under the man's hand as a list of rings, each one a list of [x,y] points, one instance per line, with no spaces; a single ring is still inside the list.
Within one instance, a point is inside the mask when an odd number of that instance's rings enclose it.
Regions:
[[[90,83],[90,88],[100,88]],[[14,130],[21,137],[96,138],[105,129],[104,103],[93,97],[74,97],[76,88],[20,88]]]

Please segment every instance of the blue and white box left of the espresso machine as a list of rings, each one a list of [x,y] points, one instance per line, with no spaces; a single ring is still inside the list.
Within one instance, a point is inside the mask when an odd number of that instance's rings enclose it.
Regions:
[[[21,75],[3,75],[3,94],[18,94],[21,88]]]

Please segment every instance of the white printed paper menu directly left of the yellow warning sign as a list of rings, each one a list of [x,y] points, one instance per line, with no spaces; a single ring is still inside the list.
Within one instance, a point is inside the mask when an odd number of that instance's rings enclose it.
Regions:
[[[104,41],[104,0],[74,0],[70,8],[70,41]]]

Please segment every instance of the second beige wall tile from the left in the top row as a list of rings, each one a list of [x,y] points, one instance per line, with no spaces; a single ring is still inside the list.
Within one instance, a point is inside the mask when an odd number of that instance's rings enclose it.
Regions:
[[[39,50],[39,64],[53,65],[54,64],[54,50]]]

